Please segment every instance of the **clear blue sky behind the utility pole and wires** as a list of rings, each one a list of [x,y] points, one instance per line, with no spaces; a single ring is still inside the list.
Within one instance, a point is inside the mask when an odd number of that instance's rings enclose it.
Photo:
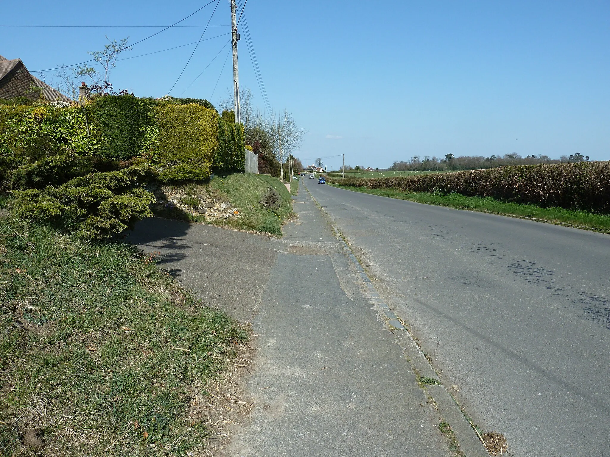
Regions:
[[[82,2],[6,2],[0,25],[163,26],[205,3],[110,0],[87,9]],[[181,25],[206,24],[214,6]],[[345,153],[349,165],[374,168],[449,153],[581,152],[610,160],[607,1],[248,0],[245,15],[271,105],[288,109],[308,131],[296,153],[303,159]],[[210,24],[224,27],[210,27],[204,38],[230,31],[228,0]],[[134,43],[156,30],[0,27],[0,54],[45,69],[86,60],[87,51],[103,48],[104,35]],[[201,31],[176,27],[121,57],[192,43]],[[262,108],[240,32],[240,82]],[[199,44],[171,94],[213,104],[225,97],[228,40]],[[118,62],[111,80],[137,96],[162,96],[194,46]],[[325,161],[336,168],[339,160]]]

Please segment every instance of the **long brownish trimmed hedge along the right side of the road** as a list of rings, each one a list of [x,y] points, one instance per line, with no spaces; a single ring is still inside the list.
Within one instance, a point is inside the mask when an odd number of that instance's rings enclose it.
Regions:
[[[515,165],[407,177],[334,179],[343,186],[493,197],[541,207],[610,211],[610,161]]]

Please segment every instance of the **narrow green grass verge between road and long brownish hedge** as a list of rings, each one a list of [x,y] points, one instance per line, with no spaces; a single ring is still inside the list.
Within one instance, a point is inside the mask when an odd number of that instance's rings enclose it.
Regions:
[[[570,225],[587,230],[610,233],[610,216],[588,211],[565,210],[564,208],[542,208],[537,205],[524,205],[510,202],[501,202],[492,197],[465,197],[462,194],[431,194],[423,192],[403,192],[395,189],[366,189],[364,187],[339,186],[335,187],[351,191],[392,197],[429,205],[440,205],[460,210],[481,211],[483,213],[503,214],[520,218],[536,219],[537,221],[551,222],[553,224]]]

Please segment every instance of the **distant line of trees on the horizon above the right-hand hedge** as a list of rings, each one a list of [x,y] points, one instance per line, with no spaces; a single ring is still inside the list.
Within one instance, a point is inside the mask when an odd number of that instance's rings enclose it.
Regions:
[[[503,165],[537,165],[539,163],[582,161],[589,161],[589,156],[584,156],[578,152],[570,156],[562,155],[559,159],[551,159],[544,154],[527,155],[526,157],[522,157],[519,154],[492,155],[490,157],[483,157],[481,155],[455,157],[453,154],[447,154],[444,158],[426,155],[422,160],[422,158],[415,155],[406,161],[395,161],[388,169],[390,171],[474,170]]]

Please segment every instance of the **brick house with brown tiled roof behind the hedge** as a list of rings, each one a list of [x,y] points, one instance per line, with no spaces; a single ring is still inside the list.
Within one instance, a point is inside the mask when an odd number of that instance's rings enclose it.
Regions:
[[[48,101],[70,101],[61,92],[32,76],[20,58],[8,60],[0,55],[0,98],[10,100],[15,97],[27,97],[37,100],[40,98],[40,91],[32,90],[32,87],[40,88]]]

